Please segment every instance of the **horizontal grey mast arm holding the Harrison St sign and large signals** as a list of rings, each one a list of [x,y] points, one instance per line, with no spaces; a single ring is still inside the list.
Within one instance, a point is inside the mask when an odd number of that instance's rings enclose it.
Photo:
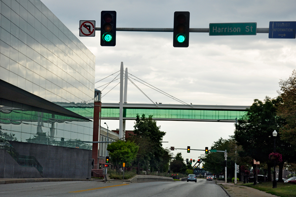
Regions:
[[[96,27],[96,31],[101,31],[100,27]],[[173,32],[174,28],[118,28],[116,31],[121,32]],[[269,28],[257,28],[257,33],[268,34]],[[210,28],[189,28],[189,32],[193,33],[209,33]]]

